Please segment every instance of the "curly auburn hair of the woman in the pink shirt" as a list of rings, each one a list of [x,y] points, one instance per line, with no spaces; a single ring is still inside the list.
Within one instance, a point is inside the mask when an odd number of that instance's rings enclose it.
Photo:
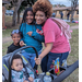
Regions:
[[[48,0],[37,0],[33,5],[33,12],[43,11],[48,17],[52,14],[52,4]]]

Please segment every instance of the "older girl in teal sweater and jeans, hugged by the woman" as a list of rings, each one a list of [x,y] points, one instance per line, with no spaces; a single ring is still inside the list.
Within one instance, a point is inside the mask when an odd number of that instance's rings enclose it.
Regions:
[[[27,46],[33,46],[38,51],[38,55],[42,52],[42,42],[44,42],[42,25],[35,24],[34,13],[32,8],[27,8],[23,15],[23,21],[20,26],[20,31],[23,34],[23,38],[20,42],[20,45],[26,44]],[[33,48],[26,48],[22,55],[28,60],[28,62],[34,68],[36,57],[35,50]]]

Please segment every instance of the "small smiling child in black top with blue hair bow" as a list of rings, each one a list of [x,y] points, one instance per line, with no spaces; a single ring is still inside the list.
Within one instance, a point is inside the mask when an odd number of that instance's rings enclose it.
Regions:
[[[13,43],[8,47],[7,54],[12,52],[15,49],[21,48],[19,43],[21,40],[22,33],[19,30],[13,30],[12,33],[11,33],[11,37],[13,39]]]

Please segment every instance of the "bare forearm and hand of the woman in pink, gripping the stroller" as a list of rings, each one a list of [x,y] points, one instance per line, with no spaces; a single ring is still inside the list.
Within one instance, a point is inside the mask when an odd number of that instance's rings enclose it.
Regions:
[[[46,48],[43,50],[43,52],[38,56],[38,58],[35,58],[36,65],[40,65],[42,59],[51,50],[52,43],[46,44]]]

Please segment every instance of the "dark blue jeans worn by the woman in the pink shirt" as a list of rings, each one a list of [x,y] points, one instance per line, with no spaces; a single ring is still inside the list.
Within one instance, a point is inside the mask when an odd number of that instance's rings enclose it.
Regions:
[[[59,57],[60,65],[62,65],[62,60],[67,59],[68,55],[69,55],[69,51],[62,52],[62,54],[49,52],[42,60],[42,65],[40,65],[42,71],[47,72],[48,70],[50,70],[51,69],[50,66],[52,65],[52,60],[56,60],[56,58],[58,58],[58,57]]]

